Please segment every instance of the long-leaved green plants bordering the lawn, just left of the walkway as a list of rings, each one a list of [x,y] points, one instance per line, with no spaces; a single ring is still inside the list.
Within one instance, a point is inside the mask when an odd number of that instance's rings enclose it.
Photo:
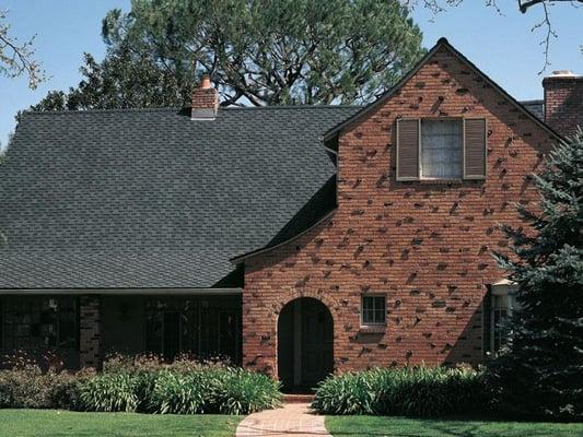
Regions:
[[[281,394],[269,377],[223,363],[118,355],[81,385],[79,398],[84,411],[249,414],[277,406]]]

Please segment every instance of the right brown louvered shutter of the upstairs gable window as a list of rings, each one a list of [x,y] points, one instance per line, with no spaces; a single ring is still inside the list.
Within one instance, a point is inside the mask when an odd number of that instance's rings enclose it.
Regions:
[[[486,119],[464,120],[464,179],[486,178]]]

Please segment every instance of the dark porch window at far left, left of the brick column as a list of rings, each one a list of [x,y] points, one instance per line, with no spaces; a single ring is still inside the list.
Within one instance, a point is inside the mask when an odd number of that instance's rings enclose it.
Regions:
[[[4,350],[75,350],[75,297],[19,297],[3,303]]]

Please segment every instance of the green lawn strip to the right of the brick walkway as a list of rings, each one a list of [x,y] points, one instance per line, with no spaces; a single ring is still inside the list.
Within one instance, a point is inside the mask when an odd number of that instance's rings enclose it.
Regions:
[[[583,424],[328,416],[335,437],[583,437]]]

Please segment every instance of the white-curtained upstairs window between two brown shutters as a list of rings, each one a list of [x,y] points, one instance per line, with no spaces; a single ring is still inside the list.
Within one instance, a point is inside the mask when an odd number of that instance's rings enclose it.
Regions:
[[[421,121],[421,175],[460,178],[463,120]]]

